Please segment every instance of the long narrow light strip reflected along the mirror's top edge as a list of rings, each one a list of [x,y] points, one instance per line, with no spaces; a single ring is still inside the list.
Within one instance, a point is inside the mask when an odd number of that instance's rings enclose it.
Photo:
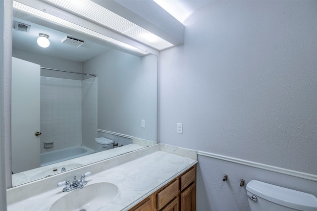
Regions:
[[[102,40],[105,40],[108,43],[114,44],[114,45],[119,46],[121,48],[132,50],[134,52],[138,52],[138,53],[141,53],[143,55],[149,54],[146,51],[143,51],[141,49],[135,48],[135,47],[130,46],[128,44],[125,44],[123,42],[114,40],[114,39],[112,39],[112,38],[110,38],[110,37],[108,37],[106,35],[100,34],[98,32],[95,32],[93,30],[87,29],[85,27],[82,27],[82,26],[77,25],[75,23],[69,22],[69,21],[64,20],[62,18],[56,17],[56,16],[51,15],[51,14],[49,14],[47,12],[41,11],[39,9],[36,9],[34,7],[28,6],[26,4],[20,3],[20,2],[15,1],[15,0],[13,0],[13,8],[20,9],[20,10],[23,10],[23,11],[28,12],[30,14],[36,15],[38,17],[53,21],[53,22],[58,23],[60,25],[63,25],[63,26],[69,27],[71,29],[77,30],[77,31],[79,31],[81,33],[86,33],[86,34],[92,35],[94,37],[97,37],[97,38],[100,38]]]

